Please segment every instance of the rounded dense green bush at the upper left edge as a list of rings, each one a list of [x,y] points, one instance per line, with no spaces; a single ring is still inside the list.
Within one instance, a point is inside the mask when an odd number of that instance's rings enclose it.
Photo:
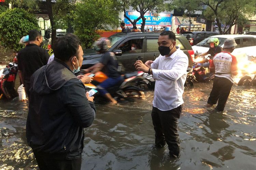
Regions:
[[[38,20],[20,8],[9,9],[0,14],[0,18],[0,44],[4,48],[19,51],[23,48],[20,38],[30,30],[39,30]]]

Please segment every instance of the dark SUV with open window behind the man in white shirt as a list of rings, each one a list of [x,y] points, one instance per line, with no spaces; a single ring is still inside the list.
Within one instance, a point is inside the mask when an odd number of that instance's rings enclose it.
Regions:
[[[141,60],[143,63],[148,60],[155,60],[159,56],[158,37],[160,33],[155,32],[126,32],[116,33],[109,37],[111,47],[109,51],[115,53],[117,60],[125,67],[125,72],[136,71],[134,63]],[[136,50],[131,50],[131,46],[137,46]],[[188,56],[189,65],[192,64],[194,51],[183,35],[176,35],[176,46]],[[84,61],[82,69],[86,69],[98,63],[102,54],[96,48],[84,50]]]

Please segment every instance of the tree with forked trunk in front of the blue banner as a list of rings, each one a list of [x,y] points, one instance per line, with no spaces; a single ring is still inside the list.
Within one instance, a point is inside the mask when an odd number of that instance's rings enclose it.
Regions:
[[[136,22],[138,20],[142,19],[141,31],[144,32],[146,24],[146,18],[144,17],[144,15],[149,12],[154,12],[158,14],[162,11],[165,11],[168,8],[167,1],[168,0],[121,0],[120,6],[122,6],[123,8],[124,17],[131,22],[133,27],[136,26]],[[133,8],[134,11],[140,13],[140,17],[138,17],[134,21],[131,21],[130,18],[126,15],[126,10],[128,10],[130,6]]]

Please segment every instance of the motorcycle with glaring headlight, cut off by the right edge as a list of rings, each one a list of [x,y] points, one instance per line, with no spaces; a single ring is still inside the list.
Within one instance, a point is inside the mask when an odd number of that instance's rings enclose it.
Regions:
[[[251,86],[256,86],[256,57],[252,56],[251,62],[249,62],[245,66],[245,70],[243,70],[243,73],[245,74],[244,77],[242,77],[238,85],[251,85]],[[250,76],[249,76],[250,75]]]

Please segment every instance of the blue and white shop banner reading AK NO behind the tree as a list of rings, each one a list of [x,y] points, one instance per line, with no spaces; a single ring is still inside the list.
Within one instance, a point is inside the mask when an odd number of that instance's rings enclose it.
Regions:
[[[126,16],[130,18],[130,20],[135,20],[140,17],[140,13],[136,11],[126,11]],[[171,30],[172,27],[172,14],[170,13],[160,13],[160,14],[155,14],[155,13],[146,13],[144,15],[146,18],[146,24],[145,24],[145,30],[150,29],[151,31],[156,31],[156,30]],[[126,24],[126,27],[130,27],[132,29],[132,24],[131,22],[127,19],[124,18],[124,22]],[[137,28],[141,27],[142,19],[136,22]]]

